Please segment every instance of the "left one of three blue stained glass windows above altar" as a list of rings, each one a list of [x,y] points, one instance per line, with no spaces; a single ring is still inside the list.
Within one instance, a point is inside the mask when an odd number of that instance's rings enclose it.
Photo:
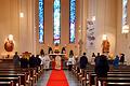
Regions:
[[[43,43],[43,0],[39,0],[39,43]]]

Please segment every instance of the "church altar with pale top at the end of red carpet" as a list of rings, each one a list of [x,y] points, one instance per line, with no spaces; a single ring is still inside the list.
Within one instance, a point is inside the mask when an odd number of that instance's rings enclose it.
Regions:
[[[52,59],[52,69],[61,70],[64,68],[64,60],[65,60],[66,54],[49,54],[49,56]]]

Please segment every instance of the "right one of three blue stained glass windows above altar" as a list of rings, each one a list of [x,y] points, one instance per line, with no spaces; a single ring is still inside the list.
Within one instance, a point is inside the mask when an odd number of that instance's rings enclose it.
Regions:
[[[69,43],[75,43],[76,0],[69,0]]]

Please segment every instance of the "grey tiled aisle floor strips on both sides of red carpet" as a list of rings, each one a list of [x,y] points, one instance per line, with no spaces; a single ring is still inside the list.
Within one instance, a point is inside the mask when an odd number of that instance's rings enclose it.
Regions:
[[[72,72],[65,70],[64,71],[68,81],[69,86],[80,86],[79,82],[77,81],[77,78],[73,75]],[[47,86],[48,80],[50,77],[51,74],[51,70],[50,71],[44,71],[44,73],[42,74],[42,76],[39,78],[37,86]]]

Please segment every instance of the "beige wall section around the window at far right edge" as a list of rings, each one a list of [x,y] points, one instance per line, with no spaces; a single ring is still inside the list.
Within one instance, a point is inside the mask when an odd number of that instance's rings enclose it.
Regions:
[[[121,33],[121,16],[122,8],[121,0],[118,0],[118,13],[117,13],[117,43],[116,53],[123,53],[126,55],[126,61],[130,64],[130,33]],[[128,25],[130,26],[130,1],[128,0]]]

